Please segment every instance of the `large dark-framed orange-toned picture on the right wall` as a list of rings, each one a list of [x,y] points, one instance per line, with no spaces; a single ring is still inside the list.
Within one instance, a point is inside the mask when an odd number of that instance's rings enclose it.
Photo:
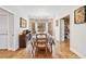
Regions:
[[[86,23],[86,5],[81,7],[74,11],[74,23],[75,24]]]

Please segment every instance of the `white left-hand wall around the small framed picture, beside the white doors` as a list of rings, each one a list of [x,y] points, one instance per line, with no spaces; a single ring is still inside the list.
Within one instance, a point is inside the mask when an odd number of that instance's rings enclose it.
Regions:
[[[20,17],[24,17],[28,21],[28,17],[26,15],[26,13],[23,12],[22,9],[19,9],[17,7],[12,7],[12,5],[5,5],[5,7],[1,7],[2,9],[11,12],[14,14],[14,43],[13,43],[13,51],[19,49],[19,34],[21,30],[23,29],[27,29],[27,28],[20,28]],[[27,23],[28,25],[28,23]]]

